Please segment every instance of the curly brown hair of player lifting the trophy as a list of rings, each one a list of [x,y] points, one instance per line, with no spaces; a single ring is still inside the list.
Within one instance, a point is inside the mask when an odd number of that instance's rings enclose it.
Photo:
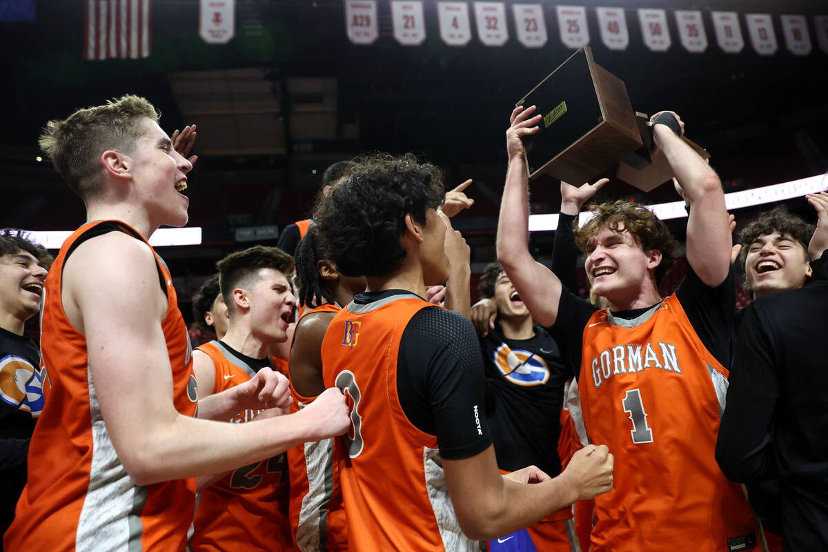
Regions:
[[[573,223],[575,244],[586,257],[586,246],[590,238],[596,236],[602,228],[618,232],[623,225],[633,238],[641,242],[644,251],[657,250],[662,253],[662,262],[656,266],[656,284],[661,284],[664,276],[676,262],[676,238],[672,237],[664,224],[650,209],[633,201],[619,199],[611,203],[590,204],[588,210],[595,212],[595,217],[578,228],[578,219]]]

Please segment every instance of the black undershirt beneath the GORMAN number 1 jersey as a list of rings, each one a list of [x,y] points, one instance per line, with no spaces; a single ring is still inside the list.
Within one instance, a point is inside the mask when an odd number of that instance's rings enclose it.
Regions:
[[[733,270],[719,285],[710,287],[701,281],[688,264],[687,273],[676,288],[676,298],[687,314],[690,324],[701,343],[718,360],[722,366],[730,364],[730,329],[733,325],[734,307],[736,305],[736,287]],[[622,319],[636,319],[652,309],[650,305],[643,309],[612,312]],[[590,316],[597,310],[589,301],[580,299],[564,288],[558,303],[558,315],[551,326],[553,335],[558,338],[561,353],[569,360],[575,377],[580,374],[580,356],[583,348],[584,328]],[[560,336],[560,338],[558,337]]]

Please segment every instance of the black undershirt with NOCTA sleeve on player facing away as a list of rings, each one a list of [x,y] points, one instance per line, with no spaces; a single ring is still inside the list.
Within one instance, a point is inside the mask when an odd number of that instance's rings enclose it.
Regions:
[[[360,293],[354,303],[368,305],[409,291]],[[470,458],[492,444],[484,408],[483,358],[477,334],[462,314],[426,307],[409,320],[397,356],[397,395],[409,421],[436,435],[440,457]],[[476,410],[474,425],[460,425]],[[477,425],[479,421],[479,426]]]

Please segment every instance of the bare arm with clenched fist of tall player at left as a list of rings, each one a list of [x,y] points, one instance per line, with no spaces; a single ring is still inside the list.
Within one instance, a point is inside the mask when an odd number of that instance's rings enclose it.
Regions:
[[[229,471],[348,427],[337,390],[295,415],[257,424],[179,414],[155,257],[126,234],[91,238],[75,250],[64,269],[63,306],[86,336],[103,420],[118,458],[139,485]]]

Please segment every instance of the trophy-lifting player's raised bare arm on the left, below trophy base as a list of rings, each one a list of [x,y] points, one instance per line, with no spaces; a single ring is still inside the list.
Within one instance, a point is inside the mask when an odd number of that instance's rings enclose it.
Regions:
[[[541,120],[535,106],[517,107],[506,132],[508,171],[498,218],[498,261],[538,324],[555,324],[561,300],[561,281],[529,253],[529,175],[522,137],[534,134]]]

